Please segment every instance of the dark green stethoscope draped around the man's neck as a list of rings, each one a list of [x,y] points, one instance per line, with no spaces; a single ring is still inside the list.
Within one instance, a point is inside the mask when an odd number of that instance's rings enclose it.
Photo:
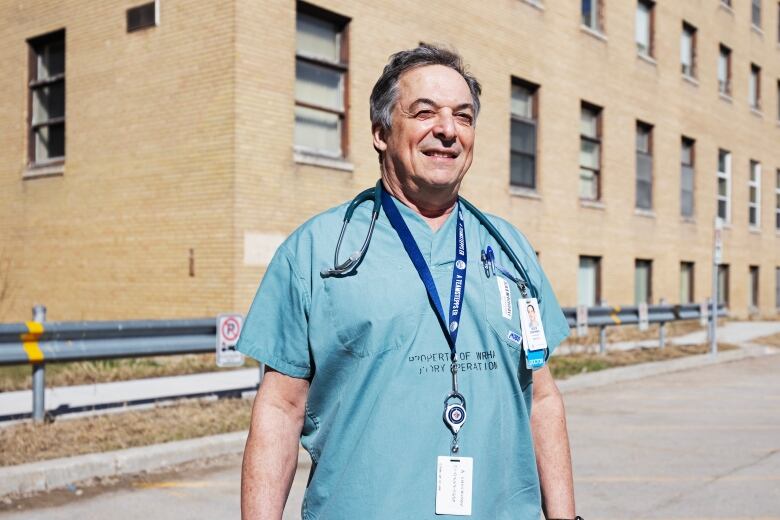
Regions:
[[[358,193],[358,195],[352,199],[352,202],[349,203],[349,206],[347,206],[347,211],[344,213],[344,223],[341,225],[341,233],[339,233],[339,239],[336,242],[336,251],[333,255],[333,267],[325,268],[320,271],[320,274],[323,277],[347,275],[354,271],[358,264],[360,264],[360,262],[363,260],[363,257],[366,255],[366,251],[368,251],[368,244],[371,242],[371,237],[374,234],[374,227],[376,226],[376,221],[379,218],[379,213],[382,209],[382,189],[382,180],[380,179],[377,181],[376,186]],[[357,207],[369,200],[374,201],[374,207],[371,210],[371,223],[368,226],[368,233],[366,233],[366,238],[363,240],[363,245],[359,250],[349,255],[346,260],[340,263],[339,251],[341,250],[341,242],[344,239],[344,233],[347,230],[347,224],[349,224],[350,219],[352,219],[352,215],[355,213]],[[501,236],[501,233],[498,232],[490,220],[488,220],[488,218],[472,203],[460,196],[458,197],[458,200],[472,215],[477,218],[479,223],[488,230],[490,236],[492,236],[493,239],[498,242],[499,247],[501,247],[504,253],[509,257],[509,260],[512,262],[512,265],[520,274],[520,276],[514,276],[509,272],[509,270],[496,263],[495,254],[493,253],[493,250],[490,246],[484,249],[481,253],[481,260],[485,269],[485,274],[490,277],[491,274],[495,274],[495,271],[498,270],[501,274],[517,284],[517,287],[520,289],[520,293],[524,298],[527,297],[526,288],[528,288],[531,290],[531,296],[539,300],[538,291],[536,290],[536,287],[530,283],[530,278],[528,277],[528,273],[523,267],[523,264],[520,262],[520,259],[517,258],[517,255],[515,255],[515,252],[512,250],[512,248],[509,247],[509,244],[507,244],[506,240],[504,240],[504,237]]]

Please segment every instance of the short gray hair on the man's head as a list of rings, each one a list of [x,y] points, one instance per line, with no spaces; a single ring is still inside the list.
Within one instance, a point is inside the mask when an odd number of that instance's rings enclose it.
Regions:
[[[379,79],[374,84],[374,88],[371,90],[372,128],[375,125],[379,125],[384,130],[390,129],[393,107],[398,99],[398,79],[404,72],[426,65],[444,65],[463,77],[471,92],[471,99],[474,105],[474,121],[477,120],[479,95],[482,93],[482,87],[477,78],[466,71],[463,58],[455,51],[422,43],[415,49],[396,52],[390,56],[390,61],[385,65],[382,75],[379,76]]]

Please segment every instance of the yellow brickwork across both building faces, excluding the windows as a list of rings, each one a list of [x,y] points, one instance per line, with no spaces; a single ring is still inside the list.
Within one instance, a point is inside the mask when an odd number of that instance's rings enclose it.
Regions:
[[[51,319],[245,311],[264,271],[262,262],[245,261],[246,237],[283,236],[375,182],[368,95],[388,55],[420,41],[455,46],[482,82],[464,194],[529,236],[564,305],[576,302],[579,255],[602,256],[602,295],[610,303],[633,302],[635,258],[653,260],[656,302],[677,301],[683,260],[696,263],[696,299],[707,297],[717,151],[726,148],[733,161],[733,224],[724,233],[731,309],[747,314],[748,265],[758,264],[761,313],[776,316],[776,2],[763,2],[763,35],[750,28],[746,0],[735,0],[733,12],[715,0],[659,2],[652,64],[636,55],[634,2],[607,2],[604,41],[581,29],[575,0],[548,0],[543,9],[524,0],[489,8],[317,1],[351,19],[351,172],[293,160],[293,1],[162,0],[161,25],[133,34],[125,32],[124,11],[135,2],[106,4],[0,1],[14,20],[0,48],[0,251],[11,256],[16,285],[0,320],[26,318],[39,302]],[[680,75],[682,20],[698,28],[698,85]],[[24,42],[61,27],[65,173],[22,180]],[[732,102],[717,93],[719,42],[733,50]],[[762,67],[761,117],[747,104],[750,62]],[[538,199],[509,189],[512,76],[541,85]],[[603,208],[583,206],[577,194],[581,100],[604,108]],[[654,125],[654,217],[634,211],[637,119]],[[696,139],[694,222],[679,216],[681,135]],[[759,233],[747,226],[750,159],[764,171]]]

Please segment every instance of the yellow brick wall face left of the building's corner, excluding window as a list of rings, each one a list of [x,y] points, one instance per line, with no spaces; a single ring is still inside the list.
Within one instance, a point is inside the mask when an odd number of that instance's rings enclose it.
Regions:
[[[0,2],[0,320],[208,316],[229,307],[234,169],[230,1]],[[26,39],[66,29],[64,174],[22,179]],[[195,277],[189,276],[194,250]]]

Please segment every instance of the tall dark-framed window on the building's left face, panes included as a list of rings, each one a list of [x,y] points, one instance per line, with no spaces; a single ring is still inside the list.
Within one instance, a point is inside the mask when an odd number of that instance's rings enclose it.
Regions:
[[[30,47],[28,160],[65,160],[65,31],[28,41]]]

